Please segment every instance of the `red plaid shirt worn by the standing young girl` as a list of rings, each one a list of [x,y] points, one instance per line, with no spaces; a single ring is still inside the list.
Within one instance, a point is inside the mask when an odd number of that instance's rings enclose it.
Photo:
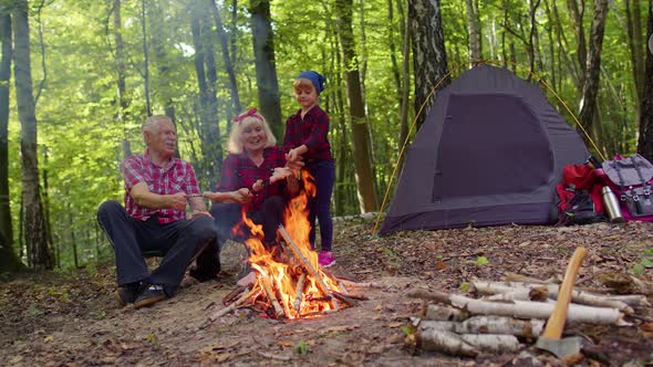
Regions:
[[[301,109],[290,116],[286,122],[286,136],[283,137],[283,150],[289,151],[302,144],[309,148],[302,157],[305,161],[333,160],[331,145],[329,144],[329,116],[320,108],[313,106],[301,118]]]

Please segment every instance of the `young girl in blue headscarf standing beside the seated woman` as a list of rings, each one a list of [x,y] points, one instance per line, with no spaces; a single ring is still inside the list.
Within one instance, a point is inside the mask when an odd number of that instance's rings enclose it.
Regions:
[[[309,240],[315,245],[315,218],[320,222],[321,251],[320,265],[335,263],[331,252],[333,223],[331,221],[331,195],[335,181],[335,166],[329,144],[329,116],[318,105],[318,97],[324,90],[324,76],[314,71],[299,73],[292,86],[294,98],[300,105],[297,114],[286,122],[283,150],[289,162],[303,159],[304,168],[315,180],[315,197],[309,202]]]

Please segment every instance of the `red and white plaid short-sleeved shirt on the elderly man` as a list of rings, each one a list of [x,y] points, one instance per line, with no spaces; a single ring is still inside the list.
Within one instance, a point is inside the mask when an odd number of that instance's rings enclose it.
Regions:
[[[147,220],[158,217],[160,224],[172,223],[185,218],[184,211],[174,209],[148,209],[139,207],[129,195],[132,188],[139,182],[147,184],[149,192],[170,195],[186,192],[186,195],[199,195],[197,180],[193,167],[185,160],[173,158],[167,167],[162,168],[149,160],[149,150],[142,156],[131,156],[123,161],[123,175],[125,177],[125,209],[127,214],[138,220]]]

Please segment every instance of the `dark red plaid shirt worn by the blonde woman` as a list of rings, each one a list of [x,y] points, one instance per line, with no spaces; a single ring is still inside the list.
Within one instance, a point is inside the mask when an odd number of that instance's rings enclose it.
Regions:
[[[243,187],[251,190],[258,179],[266,180],[272,176],[274,168],[286,166],[286,157],[281,147],[268,147],[263,150],[263,162],[257,167],[245,154],[230,154],[225,158],[220,170],[220,181],[217,191],[236,191]],[[253,192],[251,200],[252,209],[260,209],[265,199],[271,196],[286,195],[286,181],[280,180],[267,185],[262,190]]]

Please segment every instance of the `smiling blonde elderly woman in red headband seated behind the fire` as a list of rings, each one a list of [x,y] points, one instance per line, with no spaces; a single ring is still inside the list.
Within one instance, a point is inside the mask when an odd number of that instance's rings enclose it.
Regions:
[[[219,271],[219,249],[227,239],[242,241],[249,233],[234,233],[241,211],[263,227],[263,245],[272,249],[277,229],[283,220],[288,198],[299,191],[293,170],[286,167],[283,149],[263,116],[256,108],[234,118],[229,135],[229,155],[220,171],[216,192],[204,192],[210,199],[210,213],[218,229],[218,249],[207,249],[197,259],[197,271],[190,275],[203,281]],[[241,231],[243,232],[243,231]],[[213,251],[213,253],[210,253]]]

